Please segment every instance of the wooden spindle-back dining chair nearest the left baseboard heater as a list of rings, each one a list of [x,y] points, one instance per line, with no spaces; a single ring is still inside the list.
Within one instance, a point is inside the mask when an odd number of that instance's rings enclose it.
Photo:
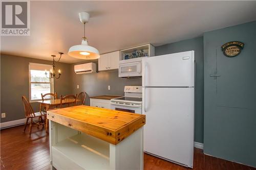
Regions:
[[[37,128],[39,125],[44,126],[45,125],[45,120],[46,120],[46,113],[45,112],[34,112],[32,106],[28,102],[25,96],[22,96],[22,101],[24,105],[24,110],[25,110],[25,116],[26,116],[26,123],[25,123],[25,128],[24,132],[26,131],[28,121],[30,118],[30,125],[29,125],[29,135],[31,135],[31,129],[32,129],[32,124],[35,123],[37,125]],[[38,122],[33,122],[33,118],[38,118]],[[44,117],[44,119],[42,119]]]

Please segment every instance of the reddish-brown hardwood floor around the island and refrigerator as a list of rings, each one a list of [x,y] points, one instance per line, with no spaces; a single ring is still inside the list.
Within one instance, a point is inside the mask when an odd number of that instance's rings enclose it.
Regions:
[[[1,130],[1,169],[2,170],[49,170],[49,136],[44,128],[32,128],[31,137],[28,131],[23,133],[24,126]],[[175,163],[144,154],[145,170],[184,170],[190,169]],[[194,170],[255,170],[254,167],[226,161],[204,155],[195,149]]]

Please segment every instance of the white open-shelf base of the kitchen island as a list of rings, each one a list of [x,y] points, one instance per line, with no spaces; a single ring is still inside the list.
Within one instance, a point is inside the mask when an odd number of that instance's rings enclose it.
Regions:
[[[112,144],[50,120],[51,169],[143,169],[143,127]]]

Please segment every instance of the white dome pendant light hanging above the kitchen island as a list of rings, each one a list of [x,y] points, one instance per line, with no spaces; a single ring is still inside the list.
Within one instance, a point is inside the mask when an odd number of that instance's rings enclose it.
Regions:
[[[74,45],[69,48],[68,55],[74,58],[84,59],[84,60],[94,60],[100,57],[99,51],[88,45],[86,38],[86,22],[89,21],[90,15],[87,12],[79,13],[80,21],[83,23],[83,37],[82,43],[80,45]]]

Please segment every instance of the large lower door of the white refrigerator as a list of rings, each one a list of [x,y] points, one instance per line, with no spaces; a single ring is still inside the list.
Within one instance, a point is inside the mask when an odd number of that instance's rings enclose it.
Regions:
[[[143,87],[144,151],[193,167],[194,88]]]

